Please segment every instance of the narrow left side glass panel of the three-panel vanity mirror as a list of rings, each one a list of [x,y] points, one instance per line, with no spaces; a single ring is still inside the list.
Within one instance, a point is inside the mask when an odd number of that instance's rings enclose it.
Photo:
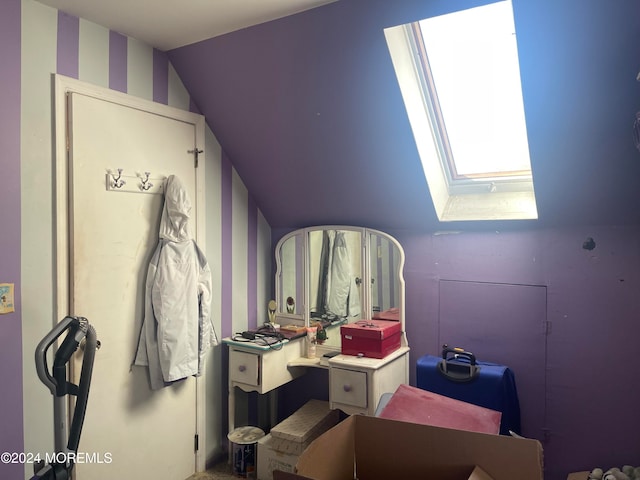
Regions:
[[[280,247],[278,311],[302,315],[304,297],[304,270],[302,254],[302,234],[293,235]]]

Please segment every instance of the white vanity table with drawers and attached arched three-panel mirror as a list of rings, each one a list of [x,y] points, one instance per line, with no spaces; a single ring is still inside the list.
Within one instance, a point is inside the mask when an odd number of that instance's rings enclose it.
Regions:
[[[229,347],[229,430],[235,428],[235,389],[260,394],[304,375],[328,370],[329,407],[373,415],[386,392],[409,383],[404,328],[404,253],[386,233],[361,227],[296,230],[276,245],[276,323],[299,328],[322,320],[328,338],[306,358],[306,336],[275,345],[225,338]],[[384,358],[340,353],[340,325],[373,318],[401,323],[400,348]],[[334,356],[323,358],[325,353]],[[277,423],[272,408],[272,425]]]

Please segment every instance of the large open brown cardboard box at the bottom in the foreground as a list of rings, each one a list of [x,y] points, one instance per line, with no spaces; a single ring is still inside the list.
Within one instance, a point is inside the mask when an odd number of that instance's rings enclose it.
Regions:
[[[543,478],[537,440],[361,415],[347,418],[314,440],[296,469],[298,475],[314,480]]]

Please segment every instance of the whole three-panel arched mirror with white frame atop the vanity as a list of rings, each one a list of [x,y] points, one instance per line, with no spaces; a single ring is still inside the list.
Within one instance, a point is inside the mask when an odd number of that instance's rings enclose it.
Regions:
[[[275,249],[278,322],[322,322],[325,346],[340,348],[340,325],[393,320],[404,331],[404,253],[390,235],[318,226],[285,235]]]

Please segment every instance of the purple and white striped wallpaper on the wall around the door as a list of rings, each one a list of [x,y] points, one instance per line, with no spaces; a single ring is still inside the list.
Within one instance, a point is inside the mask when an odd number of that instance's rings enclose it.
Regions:
[[[3,92],[20,98],[19,106],[8,113],[0,113],[3,125],[13,122],[20,126],[19,144],[15,138],[17,128],[9,139],[15,144],[16,154],[20,151],[19,162],[12,164],[15,170],[12,175],[20,187],[13,196],[3,191],[0,200],[13,200],[16,205],[21,203],[19,221],[14,222],[12,228],[14,232],[20,232],[16,237],[19,247],[3,236],[0,236],[0,246],[8,245],[10,251],[3,255],[16,258],[14,270],[20,275],[15,272],[11,275],[18,282],[16,287],[18,291],[22,290],[23,299],[22,311],[16,313],[22,352],[19,346],[7,348],[15,338],[0,336],[0,352],[10,355],[6,359],[8,363],[3,364],[12,366],[6,374],[0,370],[2,380],[7,377],[8,391],[19,392],[13,403],[5,403],[3,398],[1,415],[3,420],[7,419],[3,424],[10,428],[2,429],[0,445],[7,445],[6,450],[47,452],[53,447],[52,398],[35,375],[33,352],[53,322],[59,320],[53,313],[55,159],[52,152],[55,138],[52,75],[77,78],[183,110],[198,112],[198,109],[165,53],[136,39],[34,0],[3,1],[0,18],[3,26],[5,22],[18,25],[13,34],[19,42],[6,40],[11,30],[0,29],[3,35],[0,48],[3,55],[4,50],[9,49],[9,54],[16,58],[16,62],[7,64],[7,68],[11,68],[10,74],[20,78],[19,87]],[[216,140],[215,133],[208,127],[206,130],[204,249],[214,275],[214,325],[222,338],[266,320],[272,282],[271,228],[234,169],[232,159]],[[5,160],[2,162],[4,170]],[[8,172],[11,174],[12,170]],[[16,213],[18,211],[16,209]],[[0,281],[5,281],[1,278],[4,271],[4,268],[0,269]],[[20,302],[17,303],[20,307]],[[6,325],[1,325],[0,333],[4,333],[5,328]],[[214,349],[207,367],[208,438],[205,450],[208,457],[218,453],[222,439],[226,438],[222,433],[226,418],[221,413],[226,408],[224,348],[221,345]],[[2,391],[5,391],[4,385]],[[22,470],[23,466],[0,465],[0,478],[16,478],[16,471],[22,475]],[[31,474],[29,465],[24,476],[30,478]]]

